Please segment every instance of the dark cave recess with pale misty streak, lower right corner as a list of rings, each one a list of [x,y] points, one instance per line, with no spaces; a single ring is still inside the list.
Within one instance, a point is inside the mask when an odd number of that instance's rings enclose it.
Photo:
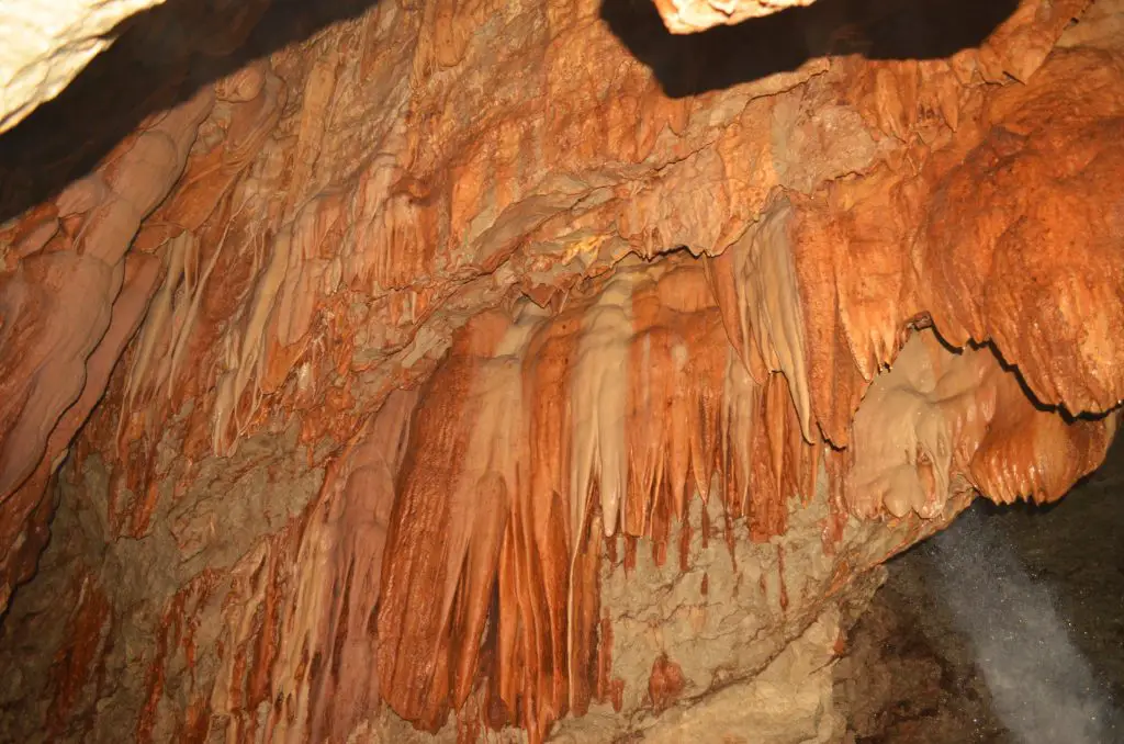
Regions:
[[[847,637],[853,744],[1124,742],[1124,436],[1060,502],[982,499],[888,564]]]

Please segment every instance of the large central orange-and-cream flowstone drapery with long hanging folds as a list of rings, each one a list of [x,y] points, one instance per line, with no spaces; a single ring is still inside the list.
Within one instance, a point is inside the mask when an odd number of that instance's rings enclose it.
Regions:
[[[726,508],[764,541],[785,530],[788,499],[814,489],[789,387],[749,375],[691,258],[618,266],[558,316],[524,302],[474,318],[422,400],[379,659],[388,702],[430,729],[475,683],[489,610],[489,673],[533,738],[588,705],[593,535],[665,550],[671,520],[718,473]]]

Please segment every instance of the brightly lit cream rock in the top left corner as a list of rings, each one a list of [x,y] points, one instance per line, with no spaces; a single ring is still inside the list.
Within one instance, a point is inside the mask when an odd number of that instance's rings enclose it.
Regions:
[[[0,131],[58,94],[129,16],[164,0],[19,0],[0,12]]]

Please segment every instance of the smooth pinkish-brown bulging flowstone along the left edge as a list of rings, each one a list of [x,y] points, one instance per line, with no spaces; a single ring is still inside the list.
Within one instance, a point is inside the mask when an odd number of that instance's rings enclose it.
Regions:
[[[0,275],[0,526],[4,557],[0,606],[29,574],[31,554],[19,548],[49,470],[101,398],[121,351],[140,324],[158,265],[128,254],[140,221],[179,178],[210,91],[157,115],[106,166],[75,182],[53,205],[9,230],[12,271]],[[73,297],[81,301],[70,301]],[[15,555],[12,552],[15,551]]]

